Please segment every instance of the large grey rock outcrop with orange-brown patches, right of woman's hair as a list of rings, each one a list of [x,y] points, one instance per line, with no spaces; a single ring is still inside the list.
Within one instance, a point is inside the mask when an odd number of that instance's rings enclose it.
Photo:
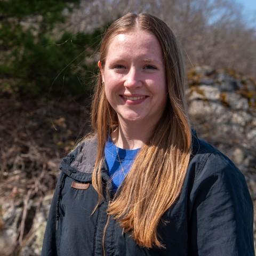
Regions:
[[[234,72],[230,75],[204,67],[195,68],[190,77],[196,80],[187,90],[188,110],[198,134],[223,151],[243,173],[256,172],[255,83]],[[206,84],[207,80],[211,83]],[[252,193],[256,195],[256,187]]]

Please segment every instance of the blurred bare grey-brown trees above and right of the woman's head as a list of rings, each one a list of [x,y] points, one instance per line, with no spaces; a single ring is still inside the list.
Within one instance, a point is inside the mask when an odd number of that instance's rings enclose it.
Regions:
[[[81,1],[69,14],[73,32],[103,26],[127,12],[147,12],[163,19],[178,36],[189,67],[237,69],[256,77],[256,28],[233,0]]]

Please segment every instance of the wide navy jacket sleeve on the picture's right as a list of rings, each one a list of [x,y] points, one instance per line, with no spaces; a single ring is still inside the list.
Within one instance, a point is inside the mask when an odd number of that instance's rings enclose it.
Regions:
[[[253,205],[244,175],[211,154],[190,193],[193,256],[253,256]]]

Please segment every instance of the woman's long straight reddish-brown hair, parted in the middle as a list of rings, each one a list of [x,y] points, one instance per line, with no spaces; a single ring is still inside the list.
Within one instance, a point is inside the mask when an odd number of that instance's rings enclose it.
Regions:
[[[139,28],[154,34],[164,56],[168,91],[164,113],[149,141],[139,151],[122,189],[108,207],[125,231],[130,231],[138,245],[164,247],[157,235],[163,213],[177,200],[185,179],[191,154],[191,130],[185,101],[185,70],[177,39],[172,30],[153,15],[128,13],[116,20],[103,36],[100,61],[105,65],[108,46],[117,34]],[[109,105],[101,73],[92,103],[92,126],[98,135],[98,154],[92,183],[102,198],[101,167],[104,147],[118,118]],[[136,179],[134,179],[136,177]]]

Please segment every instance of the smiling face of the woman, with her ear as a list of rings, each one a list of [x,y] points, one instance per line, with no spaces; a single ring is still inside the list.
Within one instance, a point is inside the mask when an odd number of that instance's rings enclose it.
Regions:
[[[119,121],[155,125],[166,105],[161,46],[153,34],[136,29],[111,39],[101,67],[106,97]]]

